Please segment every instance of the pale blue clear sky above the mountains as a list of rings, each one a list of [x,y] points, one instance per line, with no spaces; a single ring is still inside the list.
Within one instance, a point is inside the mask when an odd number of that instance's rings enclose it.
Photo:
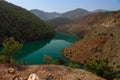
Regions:
[[[96,9],[118,10],[120,0],[6,0],[27,10],[39,9],[46,12],[66,12],[76,8],[89,11]]]

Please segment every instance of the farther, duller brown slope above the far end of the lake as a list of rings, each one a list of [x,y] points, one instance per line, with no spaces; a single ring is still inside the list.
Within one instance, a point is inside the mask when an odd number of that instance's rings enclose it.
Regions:
[[[99,23],[100,20],[110,17],[111,15],[114,15],[114,12],[91,13],[71,24],[59,26],[55,30],[57,32],[73,32],[77,35],[83,36],[95,23]]]

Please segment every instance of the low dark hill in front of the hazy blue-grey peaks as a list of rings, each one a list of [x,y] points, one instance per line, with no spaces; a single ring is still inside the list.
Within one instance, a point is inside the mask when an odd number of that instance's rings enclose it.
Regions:
[[[51,20],[47,20],[45,21],[49,26],[51,27],[58,27],[58,26],[62,26],[65,24],[69,24],[72,22],[72,20],[68,19],[68,18],[64,18],[64,17],[58,17],[58,18],[54,18]]]

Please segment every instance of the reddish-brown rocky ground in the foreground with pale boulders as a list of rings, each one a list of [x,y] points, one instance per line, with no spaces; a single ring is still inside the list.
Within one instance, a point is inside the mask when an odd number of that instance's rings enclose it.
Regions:
[[[24,66],[25,70],[17,69],[15,74],[9,74],[7,68],[0,65],[0,79],[13,80],[13,77],[19,74],[23,80],[105,80],[81,69],[72,69],[58,65]]]

